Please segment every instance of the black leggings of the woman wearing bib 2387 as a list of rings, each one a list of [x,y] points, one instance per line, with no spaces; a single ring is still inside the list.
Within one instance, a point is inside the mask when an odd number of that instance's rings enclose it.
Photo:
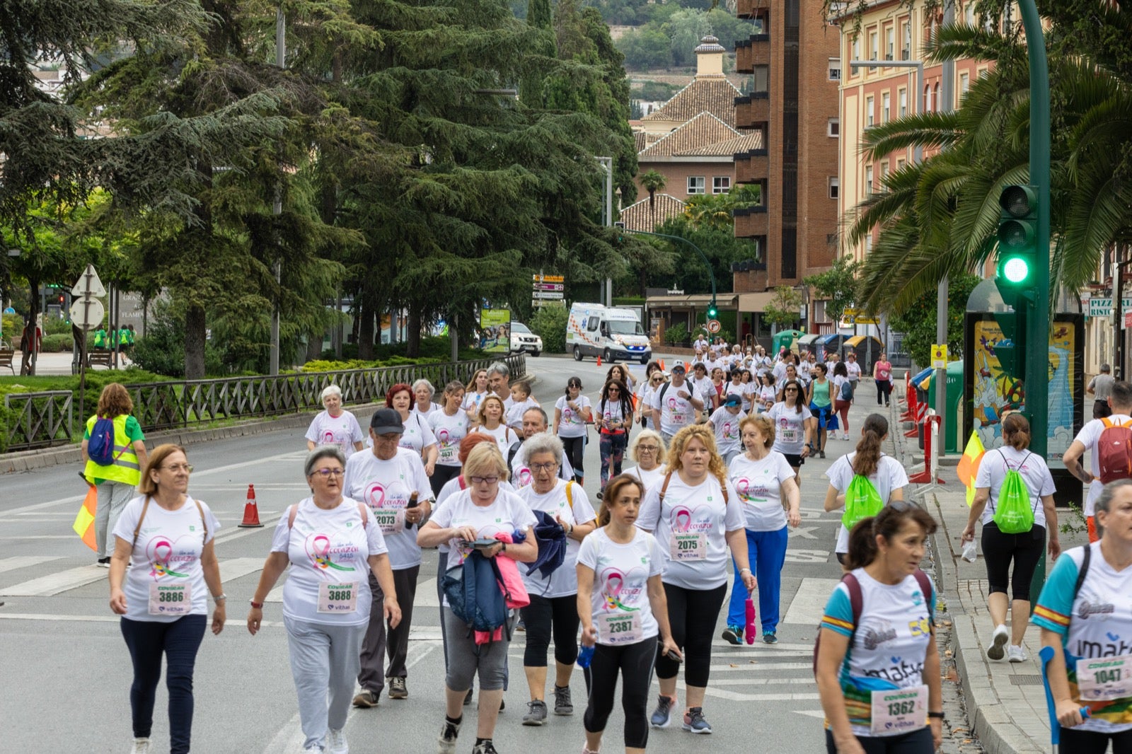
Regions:
[[[590,704],[582,718],[586,732],[601,732],[606,729],[609,713],[614,711],[619,671],[625,684],[621,687],[625,747],[644,748],[649,744],[649,720],[645,714],[655,648],[655,636],[625,646],[594,646],[590,667],[583,672],[585,687],[590,692]]]

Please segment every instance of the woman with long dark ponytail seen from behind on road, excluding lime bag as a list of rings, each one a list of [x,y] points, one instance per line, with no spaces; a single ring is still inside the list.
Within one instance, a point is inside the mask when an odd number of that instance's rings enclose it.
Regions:
[[[889,420],[878,413],[871,413],[860,428],[857,449],[834,461],[825,477],[830,486],[825,490],[825,512],[844,507],[844,494],[854,477],[865,477],[876,490],[881,502],[887,505],[904,499],[908,472],[891,455],[881,452],[881,443],[889,436]],[[842,523],[834,546],[838,563],[844,563],[849,551],[849,529]]]

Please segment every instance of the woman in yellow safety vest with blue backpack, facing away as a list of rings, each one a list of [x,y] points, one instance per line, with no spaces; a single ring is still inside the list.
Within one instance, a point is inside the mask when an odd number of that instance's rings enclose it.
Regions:
[[[86,469],[83,475],[87,482],[98,487],[98,507],[94,513],[94,541],[98,552],[98,565],[110,567],[110,556],[114,552],[114,530],[122,508],[136,496],[135,488],[142,480],[142,468],[146,462],[145,435],[142,425],[131,414],[134,402],[130,394],[119,383],[110,383],[98,396],[98,410],[86,420],[83,434],[83,460]],[[101,465],[91,460],[86,446],[98,417],[114,421],[114,456],[110,465]],[[110,541],[106,541],[106,540]]]

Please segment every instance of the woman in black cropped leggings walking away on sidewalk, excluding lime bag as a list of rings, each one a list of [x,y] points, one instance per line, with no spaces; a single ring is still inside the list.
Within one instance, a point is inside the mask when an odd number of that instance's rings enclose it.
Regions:
[[[1057,538],[1057,511],[1054,508],[1054,478],[1040,455],[1030,453],[1030,422],[1020,413],[1009,413],[1002,420],[1002,447],[987,451],[979,462],[975,479],[975,499],[963,530],[962,541],[975,539],[975,522],[983,521],[983,559],[987,566],[987,602],[994,633],[987,657],[1011,662],[1024,662],[1022,639],[1030,616],[1030,582],[1041,559],[1049,533],[1049,558],[1061,554]],[[1026,482],[1028,503],[1034,512],[1034,526],[1020,534],[1006,534],[994,522],[1006,472],[1013,470]],[[989,503],[989,505],[988,505]],[[1011,562],[1014,572],[1011,575]],[[1006,588],[1011,588],[1009,605],[1011,631],[1006,632]],[[1010,649],[1005,650],[1010,641]]]

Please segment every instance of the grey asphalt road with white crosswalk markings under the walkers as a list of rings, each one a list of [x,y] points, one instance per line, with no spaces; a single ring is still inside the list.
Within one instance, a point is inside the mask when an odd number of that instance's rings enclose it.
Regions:
[[[539,377],[535,397],[552,405],[571,375],[582,378],[593,399],[606,368],[591,360],[542,355],[528,360]],[[643,368],[634,365],[634,375]],[[851,425],[873,408],[861,389]],[[368,417],[359,417],[362,425]],[[271,532],[282,511],[307,492],[301,463],[302,430],[189,448],[196,466],[190,491],[209,503],[223,529],[216,537],[229,624],[220,636],[206,635],[197,659],[195,751],[206,753],[301,749],[298,708],[288,665],[281,606],[268,603],[265,629],[255,637],[243,625],[247,600],[267,555]],[[790,532],[783,573],[780,643],[730,646],[715,642],[705,714],[711,736],[692,738],[674,727],[653,730],[650,751],[823,752],[822,712],[811,675],[811,653],[821,609],[840,575],[832,556],[838,515],[821,512],[822,472],[850,444],[831,440],[827,460],[804,466],[803,523]],[[588,446],[585,487],[598,489],[598,446]],[[129,657],[108,606],[106,571],[71,532],[85,489],[78,468],[44,469],[0,477],[0,752],[125,752],[129,725]],[[248,485],[254,483],[263,529],[239,529]],[[372,710],[354,710],[346,734],[354,752],[435,751],[443,719],[444,659],[435,598],[436,557],[426,554],[418,586],[406,701],[381,700]],[[717,631],[722,631],[722,619]],[[521,670],[523,635],[511,648],[511,688],[496,745],[511,752],[577,751],[583,742],[585,688],[574,674],[573,717],[550,716],[546,726],[520,725],[528,701]],[[683,702],[683,685],[680,686]],[[650,703],[651,708],[652,702]],[[158,691],[153,738],[168,751],[165,694]],[[474,742],[474,710],[465,718],[460,751]],[[623,718],[615,709],[606,751],[620,751]]]

